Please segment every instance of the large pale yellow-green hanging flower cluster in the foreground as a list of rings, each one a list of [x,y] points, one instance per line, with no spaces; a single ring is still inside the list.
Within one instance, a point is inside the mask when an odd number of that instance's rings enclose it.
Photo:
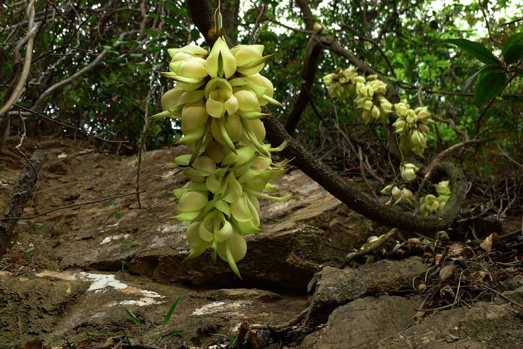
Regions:
[[[291,195],[270,196],[269,184],[287,171],[288,161],[273,164],[271,148],[264,144],[265,127],[259,120],[273,99],[274,88],[259,74],[271,55],[263,45],[238,45],[229,49],[219,37],[212,50],[196,45],[169,49],[169,72],[177,86],[162,97],[163,112],[153,119],[181,119],[186,144],[192,154],[175,159],[190,182],[173,192],[179,199],[178,214],[170,217],[187,226],[191,248],[188,259],[207,248],[240,277],[236,262],[247,251],[244,236],[259,228],[258,197],[286,201]]]

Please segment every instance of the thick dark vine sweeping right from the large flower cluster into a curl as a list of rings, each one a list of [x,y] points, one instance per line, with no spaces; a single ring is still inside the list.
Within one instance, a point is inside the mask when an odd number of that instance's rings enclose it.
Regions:
[[[382,225],[400,229],[411,229],[419,232],[445,230],[458,217],[461,204],[465,199],[467,181],[458,166],[445,162],[433,171],[431,179],[437,181],[443,177],[450,179],[452,194],[443,212],[437,216],[419,216],[410,212],[394,210],[391,206],[380,205],[369,196],[351,187],[345,179],[329,169],[312,156],[300,143],[295,141],[279,121],[274,118],[262,119],[271,144],[280,144],[287,140],[289,145],[283,150],[283,156],[294,158],[292,163],[311,179],[320,184],[336,199],[349,206],[359,214]]]

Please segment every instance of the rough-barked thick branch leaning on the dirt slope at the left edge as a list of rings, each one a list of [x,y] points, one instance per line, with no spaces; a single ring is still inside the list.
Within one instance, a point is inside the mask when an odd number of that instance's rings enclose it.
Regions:
[[[15,218],[20,217],[24,212],[24,207],[27,201],[33,194],[33,187],[38,179],[38,173],[42,168],[43,161],[46,160],[47,153],[41,150],[36,150],[33,153],[31,160],[26,162],[24,169],[20,173],[20,177],[16,181],[15,188],[11,192],[7,205],[4,210],[3,218]],[[16,227],[16,220],[3,220],[0,221],[0,260],[4,256],[5,250],[11,241],[13,231]]]

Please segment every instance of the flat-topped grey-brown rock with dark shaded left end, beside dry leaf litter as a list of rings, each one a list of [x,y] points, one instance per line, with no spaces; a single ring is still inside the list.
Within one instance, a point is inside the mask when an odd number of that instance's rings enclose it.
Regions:
[[[325,266],[315,276],[315,285],[310,285],[314,287],[314,293],[304,323],[308,326],[324,323],[334,309],[366,294],[371,285],[388,293],[412,288],[412,279],[425,273],[427,268],[428,264],[422,263],[418,257],[399,261],[380,260],[357,269]]]

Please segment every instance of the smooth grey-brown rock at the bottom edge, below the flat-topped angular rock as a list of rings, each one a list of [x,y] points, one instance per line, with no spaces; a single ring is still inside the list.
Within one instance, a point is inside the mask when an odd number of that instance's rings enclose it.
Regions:
[[[366,297],[338,307],[327,325],[305,337],[301,349],[367,349],[413,320],[417,298],[397,296]],[[404,348],[397,346],[394,348]]]

